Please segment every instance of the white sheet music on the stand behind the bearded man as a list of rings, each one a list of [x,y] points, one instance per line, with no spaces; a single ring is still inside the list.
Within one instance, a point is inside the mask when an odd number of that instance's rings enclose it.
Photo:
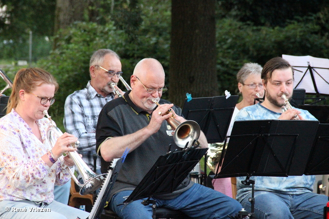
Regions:
[[[294,56],[294,55],[282,55],[286,61],[295,69],[295,81],[294,88],[305,89],[306,93],[316,93],[314,84],[307,69],[308,63],[313,69],[313,75],[315,79],[318,92],[320,94],[329,94],[329,59],[328,58],[316,58],[310,55],[306,56]],[[326,69],[321,69],[326,68]],[[305,73],[306,72],[306,73]],[[303,77],[303,75],[305,76]],[[297,86],[298,85],[298,86]]]

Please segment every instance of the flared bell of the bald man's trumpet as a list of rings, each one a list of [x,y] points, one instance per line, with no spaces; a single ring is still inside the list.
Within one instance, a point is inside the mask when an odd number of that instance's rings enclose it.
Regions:
[[[193,140],[197,140],[200,136],[200,127],[195,121],[188,120],[177,126],[174,132],[174,142],[180,148],[184,148],[189,142],[189,146]]]

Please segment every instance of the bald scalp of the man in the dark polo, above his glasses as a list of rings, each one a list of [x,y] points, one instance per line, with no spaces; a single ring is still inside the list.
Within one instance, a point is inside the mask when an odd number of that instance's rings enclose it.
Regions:
[[[139,61],[134,69],[134,75],[140,79],[146,79],[149,77],[159,77],[165,80],[165,70],[157,59],[144,58]]]

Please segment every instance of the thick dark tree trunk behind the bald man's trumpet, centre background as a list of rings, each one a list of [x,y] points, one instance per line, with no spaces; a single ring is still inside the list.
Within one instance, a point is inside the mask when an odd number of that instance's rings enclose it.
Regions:
[[[215,0],[172,0],[169,99],[218,95]]]

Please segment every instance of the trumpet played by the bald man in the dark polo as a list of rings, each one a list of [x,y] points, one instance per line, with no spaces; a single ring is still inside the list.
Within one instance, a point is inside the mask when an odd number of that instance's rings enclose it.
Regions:
[[[155,99],[152,99],[152,102],[160,106],[160,104]],[[170,112],[171,109],[163,114],[166,115]],[[187,147],[191,147],[193,141],[198,140],[201,131],[199,124],[197,124],[195,121],[188,120],[180,123],[175,119],[174,115],[171,115],[169,118],[167,118],[166,121],[175,131],[173,137],[174,142],[178,147],[185,148],[187,143],[189,143]]]

